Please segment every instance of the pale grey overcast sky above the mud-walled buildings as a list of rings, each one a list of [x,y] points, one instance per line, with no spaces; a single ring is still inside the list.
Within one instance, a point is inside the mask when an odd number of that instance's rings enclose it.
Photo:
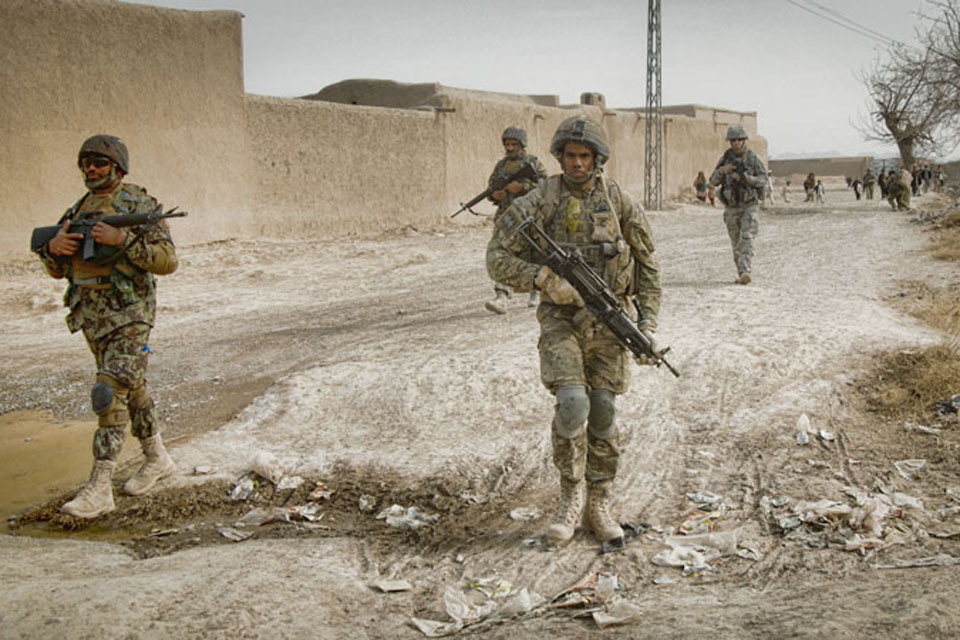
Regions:
[[[596,91],[646,104],[644,0],[145,0],[244,14],[247,93],[294,97],[350,78],[465,89]],[[854,128],[879,37],[915,42],[922,0],[662,0],[664,105],[756,111],[771,157],[896,155]],[[798,6],[800,5],[800,6]],[[811,12],[816,12],[814,15]],[[843,27],[840,24],[847,24]]]

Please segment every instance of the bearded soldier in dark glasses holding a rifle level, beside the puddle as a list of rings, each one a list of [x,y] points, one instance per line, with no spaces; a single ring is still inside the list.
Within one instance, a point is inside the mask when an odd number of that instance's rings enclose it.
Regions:
[[[146,460],[124,485],[139,495],[174,472],[163,446],[154,403],[144,377],[147,342],[156,316],[154,274],[173,273],[177,255],[165,224],[139,232],[103,222],[93,228],[96,252],[92,261],[81,258],[82,234],[70,231],[70,222],[105,215],[149,213],[157,201],[142,187],[123,182],[130,171],[127,147],[114,136],[96,135],[80,147],[77,164],[88,189],[61,218],[63,227],[39,251],[47,272],[69,282],[64,306],[69,308],[71,333],[83,331],[97,362],[91,399],[98,416],[93,436],[90,480],[62,511],[94,518],[114,509],[111,478],[126,436],[127,423],[140,440]]]

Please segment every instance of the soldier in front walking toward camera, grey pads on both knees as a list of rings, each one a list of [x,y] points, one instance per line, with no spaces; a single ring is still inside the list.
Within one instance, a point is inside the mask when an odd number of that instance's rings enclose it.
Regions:
[[[584,515],[586,484],[586,521],[598,539],[608,541],[623,536],[609,510],[620,459],[615,399],[630,381],[629,352],[584,308],[569,282],[536,262],[513,229],[532,216],[560,246],[578,249],[624,308],[632,309],[629,298],[637,296],[638,326],[651,340],[660,310],[660,271],[643,209],[603,175],[610,149],[600,125],[584,116],[565,120],[550,152],[563,173],[514,200],[498,217],[487,245],[487,271],[518,291],[541,293],[540,378],[556,396],[551,441],[561,489],[546,536],[555,543],[573,537]]]

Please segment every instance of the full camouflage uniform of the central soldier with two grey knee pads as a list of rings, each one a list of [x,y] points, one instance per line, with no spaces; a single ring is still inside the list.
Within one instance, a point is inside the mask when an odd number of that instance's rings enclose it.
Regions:
[[[593,126],[599,130],[599,125]],[[603,150],[606,152],[605,147]],[[552,151],[558,155],[555,149]],[[605,159],[600,156],[598,165]],[[616,182],[605,178],[599,166],[595,177],[584,184],[569,181],[565,175],[551,176],[497,217],[487,245],[487,270],[494,280],[517,291],[531,290],[542,268],[540,256],[530,252],[526,240],[513,233],[520,221],[531,216],[561,247],[577,248],[620,296],[624,308],[632,309],[629,298],[636,295],[642,309],[639,326],[648,332],[656,330],[660,272],[650,226],[643,209]],[[551,441],[553,461],[561,477],[561,510],[566,508],[579,519],[579,498],[571,492],[579,492],[581,481],[586,479],[589,518],[591,492],[606,492],[617,474],[620,444],[613,403],[614,396],[624,393],[629,385],[629,353],[588,310],[575,304],[554,304],[546,299],[546,293],[537,309],[537,320],[540,378],[557,397]],[[569,422],[561,395],[569,389],[583,389],[589,395],[586,415],[580,418],[586,422],[586,433],[582,422],[566,433],[561,429],[564,421]],[[586,401],[586,395],[583,398]],[[605,496],[601,496],[604,501]],[[605,505],[600,498],[597,500]],[[619,529],[615,523],[613,527]],[[594,530],[598,531],[597,525]],[[560,539],[569,539],[570,535],[572,528],[568,527],[568,534]]]

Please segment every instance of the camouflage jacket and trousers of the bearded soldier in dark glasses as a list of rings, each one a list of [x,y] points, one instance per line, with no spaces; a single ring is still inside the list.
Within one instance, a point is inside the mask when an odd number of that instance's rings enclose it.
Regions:
[[[156,208],[157,201],[146,190],[121,183],[107,194],[88,193],[67,210],[61,223],[149,213]],[[70,310],[67,327],[71,333],[83,331],[97,361],[97,380],[112,386],[118,400],[99,416],[93,439],[94,458],[115,461],[128,418],[138,439],[157,433],[153,400],[144,377],[145,347],[157,309],[153,274],[172,273],[177,268],[173,241],[166,227],[154,225],[142,234],[130,233],[122,249],[98,245],[95,262],[86,262],[79,255],[72,259],[53,256],[46,247],[39,255],[51,276],[70,281],[64,295],[64,306]]]

